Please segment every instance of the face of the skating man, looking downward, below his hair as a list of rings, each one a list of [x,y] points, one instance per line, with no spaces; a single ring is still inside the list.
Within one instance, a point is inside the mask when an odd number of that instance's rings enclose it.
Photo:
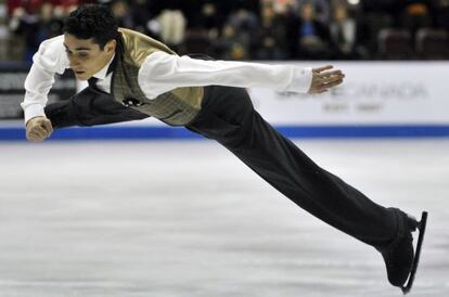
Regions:
[[[110,62],[115,52],[116,41],[108,41],[104,49],[93,39],[78,39],[73,35],[64,35],[64,47],[70,68],[79,80],[87,80],[100,72]]]

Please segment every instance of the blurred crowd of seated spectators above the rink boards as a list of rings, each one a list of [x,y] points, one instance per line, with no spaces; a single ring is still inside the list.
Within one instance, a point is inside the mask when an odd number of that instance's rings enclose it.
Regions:
[[[7,0],[0,61],[31,61],[82,3],[178,53],[224,60],[449,59],[449,0]]]

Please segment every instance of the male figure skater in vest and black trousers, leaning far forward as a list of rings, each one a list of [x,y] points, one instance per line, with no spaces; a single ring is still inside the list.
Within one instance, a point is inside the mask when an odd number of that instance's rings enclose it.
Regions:
[[[272,186],[313,216],[373,246],[389,282],[410,289],[421,250],[419,223],[397,208],[376,205],[323,170],[253,108],[242,88],[260,86],[321,93],[344,74],[324,66],[210,61],[178,56],[163,43],[118,29],[110,10],[84,5],[70,13],[64,35],[41,43],[25,81],[26,135],[50,137],[53,128],[92,126],[149,116],[215,139]],[[46,107],[55,73],[72,68],[89,88]],[[421,230],[413,251],[412,231]],[[405,285],[410,276],[408,285]]]

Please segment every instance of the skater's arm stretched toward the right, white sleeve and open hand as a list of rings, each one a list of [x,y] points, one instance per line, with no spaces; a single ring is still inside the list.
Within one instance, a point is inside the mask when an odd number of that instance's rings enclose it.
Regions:
[[[179,87],[265,87],[297,93],[324,92],[343,81],[333,66],[319,68],[236,61],[204,61],[165,52],[150,54],[139,70],[139,85],[149,99]]]

